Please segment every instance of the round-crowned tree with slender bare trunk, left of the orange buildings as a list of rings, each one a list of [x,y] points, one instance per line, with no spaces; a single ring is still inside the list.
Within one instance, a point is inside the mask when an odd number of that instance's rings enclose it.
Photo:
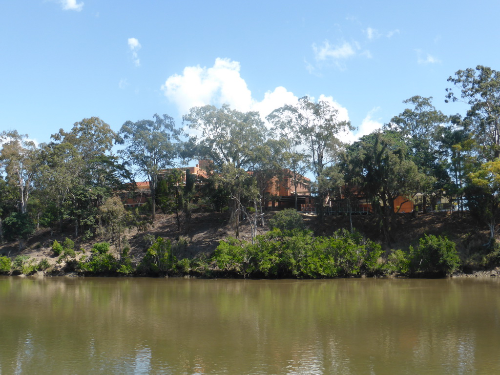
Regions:
[[[118,143],[124,144],[120,155],[135,167],[135,173],[145,175],[151,191],[152,219],[156,217],[156,188],[162,169],[175,165],[180,153],[181,129],[172,117],[153,115],[154,120],[126,121],[119,131]]]

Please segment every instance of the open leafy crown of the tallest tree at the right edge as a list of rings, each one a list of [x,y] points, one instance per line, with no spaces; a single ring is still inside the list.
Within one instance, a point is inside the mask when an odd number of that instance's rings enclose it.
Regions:
[[[470,105],[464,118],[466,129],[472,134],[481,161],[492,161],[500,156],[500,72],[487,66],[457,70],[448,82],[459,90],[455,95],[446,88],[446,102],[462,101]]]

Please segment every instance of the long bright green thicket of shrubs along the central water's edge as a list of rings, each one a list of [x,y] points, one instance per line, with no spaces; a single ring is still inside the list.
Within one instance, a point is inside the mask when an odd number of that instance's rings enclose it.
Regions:
[[[253,244],[229,238],[217,246],[212,260],[226,272],[243,276],[337,277],[381,274],[379,244],[359,233],[337,231],[331,237],[311,232],[273,229]]]

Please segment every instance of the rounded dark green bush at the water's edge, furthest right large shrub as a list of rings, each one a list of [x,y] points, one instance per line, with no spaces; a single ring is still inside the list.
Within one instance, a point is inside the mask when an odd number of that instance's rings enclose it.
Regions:
[[[424,235],[418,246],[410,246],[411,271],[450,274],[460,266],[455,243],[447,237]]]

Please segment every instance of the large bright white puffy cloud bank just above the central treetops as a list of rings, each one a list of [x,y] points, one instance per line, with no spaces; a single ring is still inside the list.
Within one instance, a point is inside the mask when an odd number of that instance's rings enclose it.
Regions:
[[[295,104],[298,97],[283,86],[265,92],[262,100],[252,98],[251,91],[241,77],[240,63],[228,58],[216,58],[211,67],[186,66],[182,74],[170,75],[161,85],[163,93],[169,101],[174,103],[179,114],[185,114],[191,107],[212,104],[220,106],[229,104],[233,109],[240,111],[255,110],[264,120],[274,109],[285,104]],[[311,100],[314,100],[311,97]],[[326,101],[338,110],[338,119],[349,121],[347,108],[343,107],[332,96],[321,94],[320,101]],[[381,127],[381,123],[373,120],[373,108],[363,119],[359,131],[354,135],[351,131],[340,134],[342,141],[351,143],[361,135]]]

